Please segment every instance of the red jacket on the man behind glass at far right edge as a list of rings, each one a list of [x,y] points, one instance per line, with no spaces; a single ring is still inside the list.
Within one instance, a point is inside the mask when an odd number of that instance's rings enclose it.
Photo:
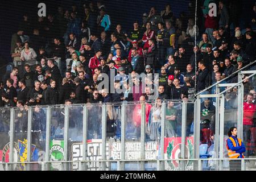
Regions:
[[[256,111],[255,104],[243,103],[243,125],[253,125],[253,118]]]

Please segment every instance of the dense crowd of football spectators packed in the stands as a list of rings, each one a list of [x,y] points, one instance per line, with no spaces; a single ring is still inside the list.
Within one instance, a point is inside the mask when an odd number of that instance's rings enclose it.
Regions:
[[[0,106],[154,101],[152,108],[146,107],[146,120],[151,111],[154,125],[150,126],[149,137],[155,140],[159,137],[161,101],[193,99],[195,93],[255,60],[256,5],[251,7],[253,15],[245,17],[250,18],[250,24],[242,30],[223,1],[217,3],[217,16],[209,16],[208,5],[212,2],[205,0],[201,5],[202,30],[195,24],[195,15],[181,13],[175,17],[171,5],[159,13],[151,7],[142,16],[143,24],[134,21],[129,31],[108,15],[100,1],[85,5],[82,13],[74,5],[70,10],[59,7],[55,15],[35,21],[24,14],[11,39],[13,62],[16,65],[23,61],[24,70],[12,67],[1,78]],[[26,64],[28,60],[37,60],[38,64]],[[255,64],[249,69],[254,70]],[[146,76],[139,78],[137,73]],[[104,75],[109,78],[109,86],[100,89],[98,85],[106,81]],[[238,82],[237,75],[224,82]],[[247,132],[255,125],[255,79],[247,79],[243,85],[243,127]],[[110,93],[112,86],[125,92]],[[216,93],[216,87],[202,94],[209,93]],[[225,100],[226,109],[237,108],[236,88],[225,94]],[[215,112],[214,102],[205,99],[202,113]],[[168,121],[177,120],[173,107],[168,102]],[[114,120],[110,115],[109,120]],[[138,118],[134,117],[137,125]],[[167,133],[174,136],[176,125],[170,128]]]

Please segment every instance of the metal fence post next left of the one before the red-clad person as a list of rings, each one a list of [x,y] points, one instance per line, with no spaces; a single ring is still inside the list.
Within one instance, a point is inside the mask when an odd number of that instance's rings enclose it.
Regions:
[[[125,160],[125,108],[123,103],[121,107],[121,160]]]

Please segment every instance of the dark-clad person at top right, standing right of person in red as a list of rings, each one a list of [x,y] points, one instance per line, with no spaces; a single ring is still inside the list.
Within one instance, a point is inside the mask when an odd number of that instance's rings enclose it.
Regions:
[[[219,27],[225,27],[227,30],[229,27],[229,13],[228,9],[226,8],[226,5],[224,5],[223,1],[218,2],[218,14],[220,15],[220,20],[218,21]]]

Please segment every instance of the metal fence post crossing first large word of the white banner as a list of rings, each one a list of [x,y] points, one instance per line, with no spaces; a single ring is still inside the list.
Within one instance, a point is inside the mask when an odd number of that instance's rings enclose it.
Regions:
[[[87,120],[88,110],[86,105],[84,105],[82,110],[82,160],[86,160],[87,157]]]

